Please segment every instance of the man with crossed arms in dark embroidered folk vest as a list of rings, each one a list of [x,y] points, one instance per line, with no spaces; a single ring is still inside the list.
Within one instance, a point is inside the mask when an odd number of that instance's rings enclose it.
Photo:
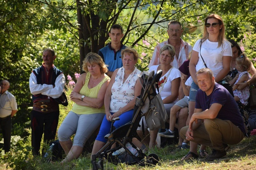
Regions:
[[[44,63],[41,67],[34,69],[29,77],[29,88],[33,100],[31,144],[34,156],[40,154],[43,133],[44,142],[49,143],[55,139],[57,131],[60,111],[55,98],[62,95],[65,76],[53,65],[55,59],[55,52],[50,48],[45,49],[43,51]]]

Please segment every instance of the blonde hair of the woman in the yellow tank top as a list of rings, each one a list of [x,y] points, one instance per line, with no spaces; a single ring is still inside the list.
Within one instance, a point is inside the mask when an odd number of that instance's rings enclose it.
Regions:
[[[88,53],[83,60],[83,71],[89,72],[87,64],[99,64],[101,74],[104,74],[108,71],[106,64],[103,62],[103,59],[96,53]]]

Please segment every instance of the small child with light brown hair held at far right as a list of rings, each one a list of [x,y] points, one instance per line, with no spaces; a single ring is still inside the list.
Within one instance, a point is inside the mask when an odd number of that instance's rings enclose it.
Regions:
[[[251,79],[251,76],[248,72],[250,70],[250,67],[251,67],[250,59],[247,58],[245,54],[241,54],[236,59],[236,69],[239,74],[238,78],[237,80],[236,79],[231,80],[231,83],[235,82],[232,86],[235,101],[240,101],[244,105],[248,104],[248,99],[250,97],[250,91],[249,91],[250,87],[248,86],[243,90],[237,90],[237,87],[238,87],[237,83],[247,82],[249,79]]]

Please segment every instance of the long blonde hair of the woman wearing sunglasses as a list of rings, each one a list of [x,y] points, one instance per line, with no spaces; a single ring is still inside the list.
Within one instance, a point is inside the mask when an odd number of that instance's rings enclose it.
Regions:
[[[210,14],[206,17],[206,19],[204,20],[204,23],[207,23],[207,20],[210,18],[214,18],[217,19],[220,25],[222,25],[222,28],[220,29],[219,35],[218,35],[218,47],[220,47],[225,39],[225,26],[223,23],[222,18],[218,15],[218,14]],[[209,33],[207,32],[207,27],[204,25],[204,34],[203,34],[203,38],[202,38],[202,43],[207,40],[209,36]]]

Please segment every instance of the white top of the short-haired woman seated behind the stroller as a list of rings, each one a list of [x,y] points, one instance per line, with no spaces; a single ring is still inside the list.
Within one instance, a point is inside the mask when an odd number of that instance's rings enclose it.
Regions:
[[[158,66],[159,65],[151,66],[149,68],[149,72],[151,72],[153,70],[155,72],[157,72]],[[161,90],[162,84],[164,83],[164,80],[167,78],[162,91],[160,91],[162,100],[165,99],[167,96],[172,95],[172,80],[177,79],[178,77],[181,77],[180,71],[174,67],[172,67],[169,77],[167,77],[168,74],[169,74],[169,71],[165,75],[162,75],[162,77],[160,78],[159,83],[158,83],[159,90]],[[177,101],[178,101],[178,98],[174,102],[176,103]]]

